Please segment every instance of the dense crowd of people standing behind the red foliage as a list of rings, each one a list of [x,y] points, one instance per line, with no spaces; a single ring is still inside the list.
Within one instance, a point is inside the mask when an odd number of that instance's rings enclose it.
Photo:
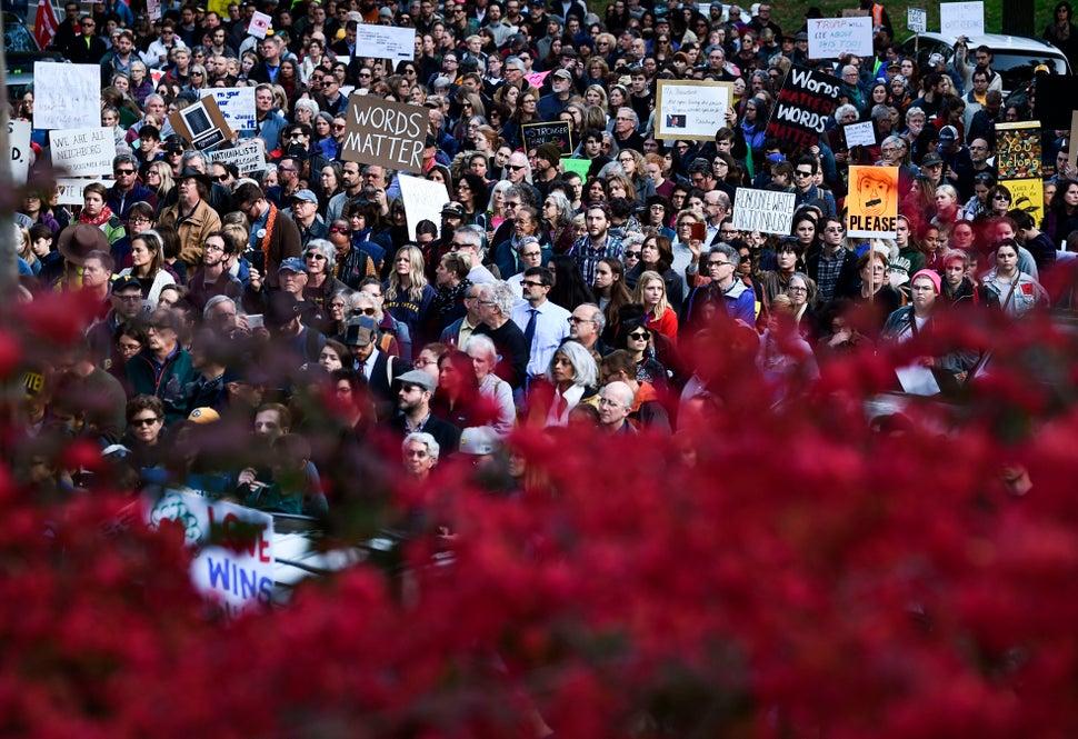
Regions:
[[[36,130],[16,226],[26,299],[77,292],[92,312],[80,346],[28,373],[28,435],[90,436],[128,460],[132,487],[319,513],[381,449],[418,479],[450,455],[501,456],[513,489],[527,467],[516,428],[670,435],[718,408],[697,361],[725,349],[717,324],[736,328],[777,405],[826,359],[911,340],[942,311],[1021,320],[1069,300],[1048,279],[1078,238],[1066,139],[1045,132],[1039,219],[994,157],[996,124],[1029,119],[1035,96],[1004,104],[991,49],[964,39],[950,59],[904,56],[868,0],[878,53],[837,63],[810,59],[803,28],[783,32],[766,2],[615,0],[601,18],[580,0],[162,9],[66,4],[53,46],[101,67],[112,180],[56,204]],[[272,18],[264,38],[249,32],[256,10]],[[415,58],[365,57],[360,23],[415,28]],[[792,64],[841,87],[803,150],[767,136]],[[659,80],[732,83],[713,139],[655,137]],[[244,86],[256,128],[240,140],[267,152],[253,172],[193,149],[168,118],[208,87]],[[422,173],[341,160],[350,94],[429,109]],[[28,91],[18,114],[32,109]],[[571,150],[526,147],[521,126],[555,120]],[[847,146],[842,124],[858,121],[876,146]],[[847,234],[850,164],[898,168],[894,239]],[[412,176],[450,196],[440,223],[415,231],[400,191]],[[793,193],[790,233],[738,230],[738,188]],[[942,383],[977,359],[921,363]],[[262,465],[187,443],[229,422]]]

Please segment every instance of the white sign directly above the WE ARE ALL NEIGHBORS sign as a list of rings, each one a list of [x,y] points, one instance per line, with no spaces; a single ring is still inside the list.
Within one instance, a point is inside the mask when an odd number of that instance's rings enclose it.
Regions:
[[[33,128],[101,124],[101,67],[38,61],[33,64]]]

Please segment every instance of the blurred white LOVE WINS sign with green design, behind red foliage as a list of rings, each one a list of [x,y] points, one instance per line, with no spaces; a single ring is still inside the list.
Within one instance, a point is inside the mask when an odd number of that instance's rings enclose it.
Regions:
[[[193,492],[166,490],[148,500],[151,529],[166,521],[183,527],[183,539],[196,550],[191,580],[202,595],[230,613],[269,606],[273,597],[273,517]]]

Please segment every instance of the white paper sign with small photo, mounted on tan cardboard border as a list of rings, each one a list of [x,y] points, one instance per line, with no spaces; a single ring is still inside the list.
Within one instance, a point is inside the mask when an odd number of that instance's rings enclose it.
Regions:
[[[711,141],[726,126],[733,101],[730,82],[659,80],[655,101],[655,138]]]

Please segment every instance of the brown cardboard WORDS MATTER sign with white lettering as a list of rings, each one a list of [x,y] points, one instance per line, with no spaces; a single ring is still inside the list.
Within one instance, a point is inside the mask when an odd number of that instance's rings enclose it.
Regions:
[[[429,108],[351,94],[340,158],[422,172],[429,119]]]

